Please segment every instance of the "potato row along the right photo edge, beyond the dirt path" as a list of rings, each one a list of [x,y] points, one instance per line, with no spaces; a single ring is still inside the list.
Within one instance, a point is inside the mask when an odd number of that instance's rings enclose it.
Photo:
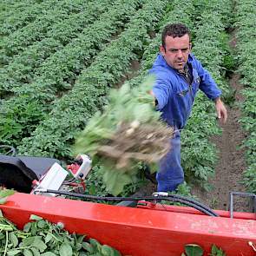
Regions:
[[[236,1],[235,27],[238,29],[236,53],[239,62],[240,82],[244,86],[242,94],[242,118],[240,122],[247,132],[243,147],[246,148],[246,171],[244,185],[248,192],[256,194],[256,39],[255,3],[249,0]]]

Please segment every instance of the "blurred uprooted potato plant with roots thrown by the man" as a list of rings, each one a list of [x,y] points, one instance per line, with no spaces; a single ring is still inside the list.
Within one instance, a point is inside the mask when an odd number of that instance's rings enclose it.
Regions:
[[[112,89],[108,105],[96,113],[76,138],[75,154],[89,154],[104,167],[103,181],[111,194],[135,181],[138,162],[154,165],[170,148],[173,129],[160,120],[149,94],[154,83],[148,77],[134,89],[127,83]],[[152,168],[155,169],[155,168]]]

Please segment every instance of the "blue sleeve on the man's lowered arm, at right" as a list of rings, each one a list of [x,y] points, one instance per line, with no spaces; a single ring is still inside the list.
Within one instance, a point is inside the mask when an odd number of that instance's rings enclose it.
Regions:
[[[211,100],[218,98],[221,95],[221,90],[214,82],[213,77],[204,69],[199,61],[196,61],[198,75],[200,76],[199,88]]]

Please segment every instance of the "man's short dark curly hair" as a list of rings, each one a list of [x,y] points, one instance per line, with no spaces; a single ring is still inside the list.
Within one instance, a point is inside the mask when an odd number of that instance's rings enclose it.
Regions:
[[[164,49],[166,49],[166,38],[167,36],[189,36],[190,40],[190,30],[187,28],[187,26],[183,23],[172,23],[172,24],[167,24],[164,29],[162,30],[161,33],[161,45],[163,46]]]

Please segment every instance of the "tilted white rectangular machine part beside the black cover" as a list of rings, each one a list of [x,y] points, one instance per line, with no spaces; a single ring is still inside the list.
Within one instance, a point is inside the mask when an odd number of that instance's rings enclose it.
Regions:
[[[39,185],[36,186],[36,188],[32,191],[36,193],[36,190],[42,189],[52,189],[52,190],[58,190],[61,186],[63,181],[66,179],[67,175],[69,173],[63,169],[58,163],[53,164],[52,167],[49,168],[49,171],[43,175],[41,180],[39,181]],[[50,196],[56,196],[56,194],[53,193],[42,193],[43,195],[50,195]]]

